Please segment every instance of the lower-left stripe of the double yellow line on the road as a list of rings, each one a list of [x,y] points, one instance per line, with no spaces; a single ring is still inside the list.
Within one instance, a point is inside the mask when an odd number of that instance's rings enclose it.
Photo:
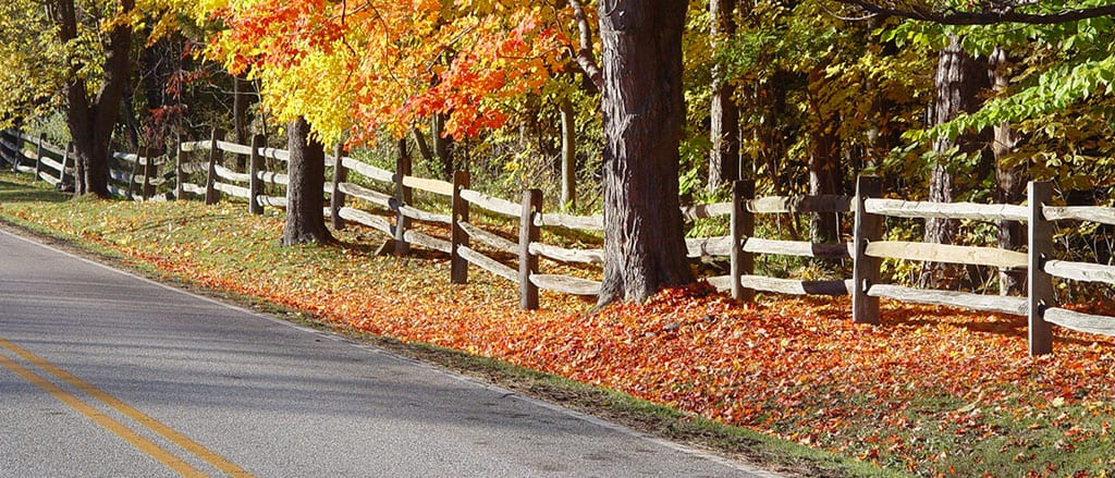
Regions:
[[[174,470],[178,475],[182,475],[184,477],[205,476],[205,474],[198,471],[194,467],[191,467],[190,464],[182,461],[178,457],[172,455],[169,451],[166,451],[158,445],[155,445],[153,441],[139,435],[136,435],[136,432],[132,431],[120,422],[113,420],[108,416],[101,413],[99,410],[90,407],[88,403],[81,401],[81,399],[75,397],[72,393],[62,390],[58,386],[51,383],[47,379],[43,379],[42,377],[27,369],[26,367],[16,363],[11,359],[9,359],[8,355],[0,354],[0,365],[3,365],[3,368],[11,370],[17,375],[21,377],[23,380],[42,389],[42,391],[50,393],[54,398],[58,399],[58,401],[68,404],[70,408],[88,417],[90,420],[101,426],[106,430],[116,433],[117,437],[120,437],[124,439],[124,441],[132,443],[132,446],[135,447],[137,450],[147,453],[148,456],[158,460],[161,464],[165,465],[167,468]]]

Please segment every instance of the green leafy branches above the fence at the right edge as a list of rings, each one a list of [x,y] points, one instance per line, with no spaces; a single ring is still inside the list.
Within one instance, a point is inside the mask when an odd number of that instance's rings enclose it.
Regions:
[[[1043,12],[1102,4],[1090,0],[1070,3],[1038,2],[1027,8]],[[900,47],[930,51],[940,48],[948,35],[958,35],[962,48],[978,58],[1002,50],[1007,65],[999,67],[1000,72],[1010,78],[1004,90],[986,94],[987,101],[975,113],[937,127],[910,125],[903,134],[909,143],[893,152],[888,166],[909,173],[901,162],[918,149],[928,149],[938,137],[956,138],[1010,125],[1020,142],[1005,164],[1025,165],[1031,177],[1056,181],[1067,189],[1109,183],[1111,168],[1115,167],[1109,159],[1115,109],[1113,28],[1113,19],[1104,17],[1051,26],[942,27],[904,21],[881,29],[881,38]],[[958,170],[972,170],[973,157],[958,159]],[[985,187],[986,177],[959,179],[959,191],[972,191]]]

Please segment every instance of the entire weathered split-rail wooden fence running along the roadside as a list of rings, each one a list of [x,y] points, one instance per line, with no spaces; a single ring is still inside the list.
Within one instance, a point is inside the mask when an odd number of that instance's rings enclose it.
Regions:
[[[159,170],[167,169],[172,163],[158,150],[115,153],[114,194],[145,201],[193,196],[204,198],[206,204],[230,196],[245,199],[252,214],[262,214],[264,207],[287,206],[284,194],[268,195],[266,192],[284,192],[289,177],[266,170],[264,165],[265,159],[279,164],[288,162],[290,153],[264,147],[261,137],[253,138],[251,145],[239,145],[225,142],[224,134],[214,130],[210,139],[180,143],[174,152],[173,170],[162,174]],[[236,163],[246,164],[248,170],[226,166],[229,155],[246,159]],[[68,148],[49,145],[41,137],[2,131],[0,158],[12,170],[33,174],[56,186],[72,184],[74,166]],[[392,240],[394,253],[400,255],[407,254],[411,246],[446,253],[454,283],[466,283],[469,266],[479,267],[515,284],[523,309],[539,308],[541,290],[585,296],[600,292],[601,284],[593,277],[601,275],[602,248],[569,247],[543,238],[558,236],[553,232],[560,230],[599,236],[604,227],[600,215],[546,213],[537,189],[524,192],[518,202],[489,196],[471,188],[467,172],[456,172],[452,182],[414,176],[410,158],[405,155],[397,158],[391,172],[338,149],[327,158],[327,167],[332,168],[332,174],[324,182],[322,193],[329,196],[326,213],[334,228],[355,223],[378,231]],[[155,194],[172,183],[165,196]],[[730,273],[708,277],[708,282],[721,291],[730,291],[741,301],[753,300],[755,292],[850,294],[852,318],[861,323],[880,322],[881,297],[1021,315],[1028,318],[1029,351],[1034,355],[1053,350],[1053,325],[1115,336],[1115,318],[1058,306],[1054,294],[1055,279],[1115,285],[1115,266],[1058,261],[1054,242],[1055,222],[1115,225],[1115,208],[1056,206],[1049,183],[1031,183],[1027,205],[906,202],[883,197],[880,189],[878,178],[860,177],[856,194],[851,197],[755,197],[753,182],[737,182],[731,202],[682,207],[680,213],[686,221],[728,216],[730,224],[729,235],[687,238],[688,256],[726,258]],[[421,194],[423,201],[415,201],[416,193]],[[852,242],[814,243],[756,236],[757,215],[814,213],[851,215]],[[481,216],[484,221],[473,221]],[[1009,251],[884,241],[888,217],[1015,221],[1027,224],[1029,242],[1025,251]],[[517,234],[506,233],[506,224],[504,227],[484,226],[500,221],[510,222],[513,225],[510,228]],[[547,231],[549,234],[543,234]],[[850,260],[852,276],[803,281],[757,275],[754,264],[759,254]],[[546,267],[542,266],[543,260],[550,263]],[[1028,289],[1022,296],[1004,296],[888,284],[881,280],[884,260],[1026,270]],[[544,273],[553,270],[568,273]]]

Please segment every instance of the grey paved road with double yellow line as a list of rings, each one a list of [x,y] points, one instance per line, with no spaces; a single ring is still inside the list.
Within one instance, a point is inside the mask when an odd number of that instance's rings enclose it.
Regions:
[[[0,231],[0,477],[754,477]]]

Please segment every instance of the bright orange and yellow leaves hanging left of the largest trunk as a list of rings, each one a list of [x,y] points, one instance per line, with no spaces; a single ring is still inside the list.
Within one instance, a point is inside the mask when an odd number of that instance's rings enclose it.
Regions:
[[[280,119],[327,139],[396,135],[449,115],[445,133],[498,128],[562,70],[569,13],[530,2],[209,0],[224,29],[209,56],[248,71]]]

